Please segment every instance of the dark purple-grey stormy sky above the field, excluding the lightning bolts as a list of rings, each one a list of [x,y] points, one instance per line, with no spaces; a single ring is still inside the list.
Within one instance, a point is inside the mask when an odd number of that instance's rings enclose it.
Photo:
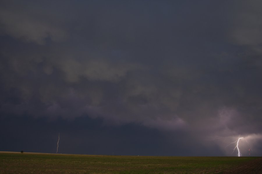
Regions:
[[[0,1],[0,151],[262,155],[262,1]]]

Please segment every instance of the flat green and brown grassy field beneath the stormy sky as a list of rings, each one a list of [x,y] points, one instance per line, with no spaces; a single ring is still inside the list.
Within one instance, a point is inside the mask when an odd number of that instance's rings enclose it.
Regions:
[[[0,173],[261,173],[262,157],[0,153]]]

